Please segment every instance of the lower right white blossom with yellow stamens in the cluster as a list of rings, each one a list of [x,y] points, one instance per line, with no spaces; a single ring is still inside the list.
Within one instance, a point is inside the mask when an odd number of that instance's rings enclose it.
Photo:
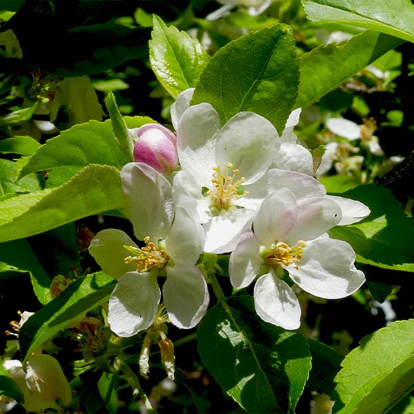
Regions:
[[[256,277],[257,315],[285,329],[300,326],[301,310],[293,289],[282,279],[284,270],[300,288],[324,299],[355,292],[365,281],[355,268],[355,253],[326,231],[339,223],[341,209],[326,197],[297,199],[282,188],[266,197],[230,255],[229,275],[235,288]]]

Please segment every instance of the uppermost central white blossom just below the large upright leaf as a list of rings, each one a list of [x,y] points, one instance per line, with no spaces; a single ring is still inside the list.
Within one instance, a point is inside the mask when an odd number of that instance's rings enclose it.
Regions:
[[[267,195],[257,198],[255,187],[277,155],[279,135],[254,112],[239,112],[221,126],[209,103],[184,110],[178,98],[172,113],[182,170],[173,181],[174,201],[203,224],[206,252],[228,252]]]

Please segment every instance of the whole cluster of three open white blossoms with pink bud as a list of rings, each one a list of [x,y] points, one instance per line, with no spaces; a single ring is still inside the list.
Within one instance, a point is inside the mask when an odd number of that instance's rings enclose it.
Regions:
[[[192,96],[186,90],[172,105],[176,138],[155,124],[141,127],[145,141],[137,139],[136,162],[121,171],[135,239],[106,229],[90,243],[97,263],[118,281],[110,328],[121,337],[148,330],[164,306],[172,324],[195,327],[209,304],[209,275],[200,258],[226,253],[233,287],[255,283],[257,315],[297,329],[301,311],[293,284],[337,299],[364,283],[353,248],[327,232],[370,211],[359,201],[326,195],[313,176],[311,152],[293,134],[300,110],[279,137],[254,112],[239,112],[222,125],[209,103],[191,106]]]

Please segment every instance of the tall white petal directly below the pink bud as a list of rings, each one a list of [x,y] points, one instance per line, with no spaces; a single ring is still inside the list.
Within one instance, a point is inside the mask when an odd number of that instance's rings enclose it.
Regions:
[[[172,188],[166,177],[146,164],[132,162],[122,168],[121,179],[124,209],[137,239],[165,239],[174,217]]]

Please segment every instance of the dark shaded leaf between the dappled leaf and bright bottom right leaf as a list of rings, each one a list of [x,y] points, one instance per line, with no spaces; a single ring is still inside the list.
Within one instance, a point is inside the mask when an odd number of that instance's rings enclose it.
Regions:
[[[306,386],[319,394],[331,395],[335,388],[333,379],[341,368],[344,357],[322,342],[308,339],[308,345],[312,355],[312,369]]]

